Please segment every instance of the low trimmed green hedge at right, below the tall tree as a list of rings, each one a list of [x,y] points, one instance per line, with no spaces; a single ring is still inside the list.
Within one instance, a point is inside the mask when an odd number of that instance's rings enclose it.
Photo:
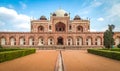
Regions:
[[[118,51],[110,51],[110,50],[99,50],[99,49],[88,49],[89,53],[108,57],[111,59],[120,60],[120,52]]]

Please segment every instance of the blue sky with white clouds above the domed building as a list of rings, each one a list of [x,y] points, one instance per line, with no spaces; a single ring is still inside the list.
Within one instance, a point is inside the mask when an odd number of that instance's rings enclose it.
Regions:
[[[82,19],[90,19],[90,31],[101,32],[114,24],[120,31],[120,0],[0,0],[0,31],[29,32],[30,20],[59,8]]]

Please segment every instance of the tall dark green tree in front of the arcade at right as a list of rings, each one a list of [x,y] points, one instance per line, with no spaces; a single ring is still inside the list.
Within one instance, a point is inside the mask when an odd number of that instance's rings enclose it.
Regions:
[[[108,30],[106,30],[104,32],[104,46],[105,48],[112,48],[112,46],[114,45],[114,39],[113,39],[113,29],[115,28],[115,26],[113,24],[108,25]]]

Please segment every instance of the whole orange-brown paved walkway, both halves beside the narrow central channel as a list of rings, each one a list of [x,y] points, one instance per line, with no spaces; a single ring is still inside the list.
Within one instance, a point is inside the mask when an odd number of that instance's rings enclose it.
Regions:
[[[35,54],[0,63],[0,71],[54,71],[59,51],[39,50]],[[83,50],[62,51],[64,71],[120,71],[120,61]]]

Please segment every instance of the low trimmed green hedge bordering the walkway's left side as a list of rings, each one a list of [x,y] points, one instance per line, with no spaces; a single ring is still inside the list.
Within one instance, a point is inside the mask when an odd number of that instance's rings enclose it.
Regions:
[[[0,63],[35,53],[35,51],[36,51],[35,49],[17,49],[17,50],[13,50],[13,51],[0,52]]]

